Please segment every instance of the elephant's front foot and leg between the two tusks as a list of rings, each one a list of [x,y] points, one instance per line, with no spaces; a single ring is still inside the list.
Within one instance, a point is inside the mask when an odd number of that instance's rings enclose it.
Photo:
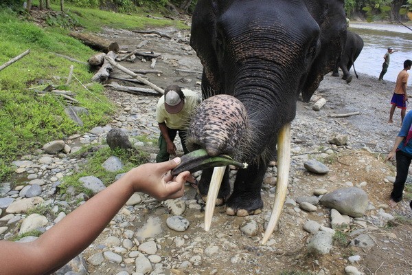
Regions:
[[[263,201],[260,188],[266,166],[249,164],[247,169],[238,170],[233,192],[226,203],[226,213],[229,215],[247,216],[262,212]]]

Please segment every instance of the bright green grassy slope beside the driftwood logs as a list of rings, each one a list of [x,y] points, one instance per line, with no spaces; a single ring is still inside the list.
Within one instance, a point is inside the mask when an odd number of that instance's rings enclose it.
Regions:
[[[53,7],[58,10],[58,7]],[[146,14],[118,14],[101,10],[66,6],[71,22],[77,21],[85,32],[96,32],[104,25],[111,28],[141,29],[151,25],[177,25],[169,20],[155,20]],[[67,17],[49,19],[53,25],[41,28],[23,19],[11,10],[0,9],[0,65],[30,49],[30,54],[0,71],[0,179],[12,171],[11,162],[21,155],[30,154],[46,142],[63,139],[73,133],[82,133],[93,126],[105,124],[115,107],[104,97],[99,84],[88,86],[93,72],[87,65],[73,63],[56,56],[62,54],[79,61],[95,54],[67,34],[69,30],[59,25],[69,25]],[[56,54],[55,54],[56,53]],[[69,86],[66,78],[69,67],[74,65],[74,76]],[[48,84],[58,89],[76,93],[81,107],[90,115],[82,116],[84,126],[77,126],[65,115],[65,101],[53,95],[38,96]],[[30,88],[30,89],[29,89]],[[36,89],[35,89],[36,88]]]

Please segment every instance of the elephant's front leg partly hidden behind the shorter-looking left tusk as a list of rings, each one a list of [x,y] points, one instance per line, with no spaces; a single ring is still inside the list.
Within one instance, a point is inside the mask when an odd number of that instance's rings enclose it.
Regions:
[[[202,196],[203,201],[206,201],[207,192],[209,192],[209,184],[211,175],[213,174],[214,168],[205,169],[202,172],[201,180],[198,183],[198,192]],[[229,167],[225,170],[225,175],[222,179],[222,184],[220,185],[220,190],[218,192],[218,199],[216,199],[216,206],[222,206],[225,203],[226,198],[230,194],[230,184],[229,184]]]

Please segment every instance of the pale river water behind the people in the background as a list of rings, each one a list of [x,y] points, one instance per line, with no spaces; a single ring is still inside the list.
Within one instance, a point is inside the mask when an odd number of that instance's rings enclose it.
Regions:
[[[411,28],[411,25],[409,27]],[[365,43],[355,61],[358,73],[374,76],[377,80],[388,47],[393,47],[393,50],[398,52],[391,54],[391,62],[384,80],[395,82],[398,73],[403,69],[404,61],[412,60],[412,30],[403,25],[351,21],[350,30],[359,34]],[[353,74],[353,67],[351,73]],[[409,74],[412,75],[411,71]],[[408,84],[412,84],[412,76],[409,77]]]

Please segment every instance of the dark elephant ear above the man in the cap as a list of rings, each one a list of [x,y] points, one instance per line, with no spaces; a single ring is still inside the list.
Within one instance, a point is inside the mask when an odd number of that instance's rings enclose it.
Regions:
[[[192,16],[190,46],[203,64],[203,78],[218,90],[220,78],[216,56],[216,0],[199,0]]]

